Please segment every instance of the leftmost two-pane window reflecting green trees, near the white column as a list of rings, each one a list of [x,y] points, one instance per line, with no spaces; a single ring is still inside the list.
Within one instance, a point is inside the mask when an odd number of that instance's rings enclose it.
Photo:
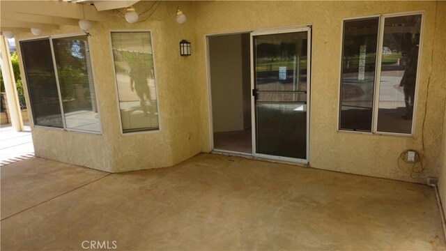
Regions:
[[[20,47],[34,124],[100,132],[87,37],[26,40]]]

